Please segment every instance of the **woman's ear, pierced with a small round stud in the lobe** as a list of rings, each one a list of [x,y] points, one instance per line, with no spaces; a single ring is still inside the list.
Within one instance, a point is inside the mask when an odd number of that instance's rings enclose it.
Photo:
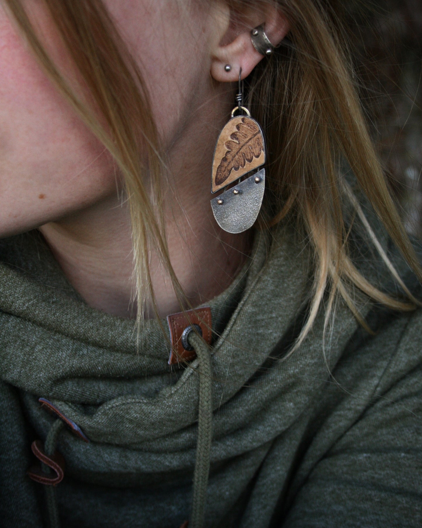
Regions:
[[[266,15],[266,16],[265,16]],[[263,17],[265,16],[265,20]],[[255,66],[264,58],[263,50],[255,49],[251,30],[260,25],[263,26],[265,35],[273,46],[278,46],[289,31],[289,23],[286,18],[275,8],[268,8],[267,13],[261,16],[255,14],[248,21],[250,27],[245,27],[243,22],[241,30],[224,44],[218,44],[214,50],[211,63],[211,75],[216,81],[233,82],[238,78],[239,70],[242,68],[242,79],[247,77]],[[257,38],[263,36],[256,35]],[[257,46],[260,49],[259,46]],[[229,65],[230,68],[226,68]]]

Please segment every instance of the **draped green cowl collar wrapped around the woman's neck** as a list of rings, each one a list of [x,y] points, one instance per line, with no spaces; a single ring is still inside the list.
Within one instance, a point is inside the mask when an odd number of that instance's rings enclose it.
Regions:
[[[61,451],[71,472],[83,467],[86,476],[101,468],[104,449],[113,452],[107,474],[130,468],[133,476],[191,465],[198,416],[196,361],[171,372],[168,342],[155,321],[142,328],[138,353],[133,322],[82,303],[63,277],[55,278],[60,272],[51,257],[42,254],[26,271],[12,264],[0,266],[2,378],[21,389],[28,417],[41,436],[51,425],[37,402],[44,397],[91,440],[82,460],[76,446],[80,440],[62,435]],[[251,265],[210,303],[214,329],[224,326],[212,351],[212,461],[242,454],[280,434],[310,404],[315,386],[327,379],[321,317],[300,349],[287,361],[281,357],[285,336],[303,308],[308,274],[308,254],[292,228],[257,234]],[[330,366],[356,329],[342,305],[337,321]],[[281,405],[286,393],[289,398]],[[300,401],[300,408],[292,401]],[[277,411],[272,410],[275,402]],[[139,451],[148,457],[142,459]]]

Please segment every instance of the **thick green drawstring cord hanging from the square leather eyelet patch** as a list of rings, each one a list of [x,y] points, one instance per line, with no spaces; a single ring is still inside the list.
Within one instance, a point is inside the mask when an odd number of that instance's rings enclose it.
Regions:
[[[199,360],[198,439],[189,528],[202,528],[204,524],[211,441],[213,438],[212,367],[209,348],[202,337],[195,332],[190,332],[187,339],[189,344],[195,348]]]

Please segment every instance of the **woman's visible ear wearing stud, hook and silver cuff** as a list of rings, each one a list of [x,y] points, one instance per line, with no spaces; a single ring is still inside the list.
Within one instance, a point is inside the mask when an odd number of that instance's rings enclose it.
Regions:
[[[273,5],[243,15],[231,13],[223,39],[212,50],[211,75],[216,81],[237,81],[241,68],[244,79],[264,58],[251,41],[251,30],[260,24],[264,24],[265,34],[273,46],[279,45],[289,31],[289,22]],[[229,71],[227,65],[231,67]]]

